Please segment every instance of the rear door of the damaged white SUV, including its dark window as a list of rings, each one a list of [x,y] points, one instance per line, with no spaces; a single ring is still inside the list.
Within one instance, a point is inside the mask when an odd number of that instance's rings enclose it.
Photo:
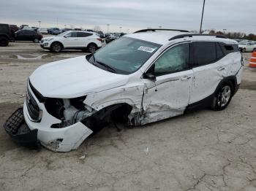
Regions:
[[[228,63],[222,61],[223,52],[217,42],[192,42],[191,49],[194,77],[189,104],[212,95],[228,70]]]

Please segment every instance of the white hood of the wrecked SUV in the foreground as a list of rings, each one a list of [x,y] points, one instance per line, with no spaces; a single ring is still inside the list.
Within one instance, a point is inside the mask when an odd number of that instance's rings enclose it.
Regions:
[[[40,66],[29,79],[45,97],[76,98],[125,85],[129,77],[99,69],[83,55]]]

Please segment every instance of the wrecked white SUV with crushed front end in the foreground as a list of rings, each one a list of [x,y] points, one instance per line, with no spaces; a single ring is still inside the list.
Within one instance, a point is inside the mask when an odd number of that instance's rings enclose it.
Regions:
[[[23,112],[4,128],[23,143],[68,152],[109,122],[145,125],[201,106],[225,109],[243,65],[237,42],[225,36],[137,31],[94,54],[40,66]]]

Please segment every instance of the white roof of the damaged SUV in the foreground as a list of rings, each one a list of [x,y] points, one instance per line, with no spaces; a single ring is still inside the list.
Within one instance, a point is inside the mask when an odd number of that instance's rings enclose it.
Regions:
[[[189,32],[180,32],[180,31],[147,31],[147,32],[140,32],[135,34],[127,34],[127,37],[140,39],[148,42],[154,42],[157,44],[166,44],[167,42],[170,42],[170,39],[174,36],[178,35],[186,35],[186,34],[192,34]],[[198,35],[198,34],[195,34]],[[189,38],[188,36],[180,38]],[[193,39],[201,39],[201,40],[209,40],[212,41],[220,41],[220,42],[228,42],[228,43],[237,43],[236,41],[232,39],[223,39],[223,38],[217,38],[216,36],[207,36],[206,35],[200,35],[200,36],[193,36]]]

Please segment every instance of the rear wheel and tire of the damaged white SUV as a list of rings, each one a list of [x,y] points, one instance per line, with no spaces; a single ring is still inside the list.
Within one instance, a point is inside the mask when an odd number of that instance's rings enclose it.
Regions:
[[[211,108],[215,111],[221,111],[225,109],[232,99],[234,93],[234,87],[232,82],[224,82],[217,90]]]

